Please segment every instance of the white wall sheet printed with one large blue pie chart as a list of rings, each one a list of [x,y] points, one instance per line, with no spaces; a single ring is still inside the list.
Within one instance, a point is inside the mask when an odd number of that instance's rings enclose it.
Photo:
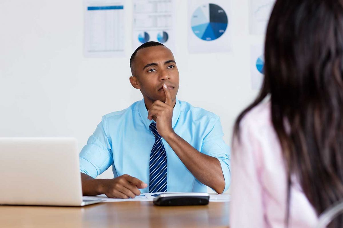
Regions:
[[[190,53],[231,51],[229,0],[188,0]]]

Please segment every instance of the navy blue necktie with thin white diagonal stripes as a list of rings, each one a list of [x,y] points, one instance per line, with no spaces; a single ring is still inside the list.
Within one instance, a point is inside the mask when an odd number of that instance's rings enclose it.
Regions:
[[[158,134],[156,123],[150,124],[150,130],[155,136],[155,143],[150,153],[149,192],[167,191],[167,153]]]

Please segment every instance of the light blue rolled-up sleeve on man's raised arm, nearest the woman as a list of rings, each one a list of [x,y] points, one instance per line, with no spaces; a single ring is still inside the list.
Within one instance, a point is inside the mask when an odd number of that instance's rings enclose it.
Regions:
[[[210,123],[210,131],[204,137],[200,152],[219,160],[225,179],[225,192],[231,183],[230,147],[223,140],[224,133],[219,117],[212,119]]]

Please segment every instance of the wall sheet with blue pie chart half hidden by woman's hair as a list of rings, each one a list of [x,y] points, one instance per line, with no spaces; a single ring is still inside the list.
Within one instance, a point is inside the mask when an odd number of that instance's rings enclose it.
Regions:
[[[253,90],[261,89],[264,79],[264,54],[263,45],[250,47],[250,77]]]

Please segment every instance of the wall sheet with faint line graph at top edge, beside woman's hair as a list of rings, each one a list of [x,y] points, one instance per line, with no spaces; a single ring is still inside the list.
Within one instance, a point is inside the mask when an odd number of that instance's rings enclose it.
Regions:
[[[265,33],[275,0],[249,0],[249,30],[251,34]]]

